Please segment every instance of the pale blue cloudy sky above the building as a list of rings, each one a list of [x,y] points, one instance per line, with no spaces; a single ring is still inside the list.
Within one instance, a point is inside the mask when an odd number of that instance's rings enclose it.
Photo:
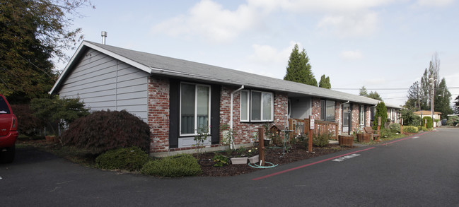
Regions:
[[[332,89],[368,88],[403,105],[437,52],[459,95],[459,3],[454,0],[96,1],[74,20],[85,40],[284,78],[295,44]],[[69,54],[73,54],[70,51]],[[403,88],[403,90],[383,90]],[[358,94],[359,90],[341,90]],[[453,100],[451,100],[452,102]]]

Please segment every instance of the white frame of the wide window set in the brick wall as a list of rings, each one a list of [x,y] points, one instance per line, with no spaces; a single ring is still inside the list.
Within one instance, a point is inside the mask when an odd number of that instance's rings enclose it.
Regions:
[[[248,110],[248,120],[243,120],[240,119],[240,122],[273,122],[274,121],[274,93],[272,92],[265,92],[265,91],[260,91],[260,90],[240,90],[241,94],[242,92],[247,92],[248,93],[248,101],[246,102],[247,110]],[[260,120],[254,120],[252,119],[252,93],[261,93],[261,98],[260,100]],[[266,117],[263,117],[263,95],[264,94],[269,94],[271,95],[271,109],[270,109],[270,117],[269,119],[265,119]],[[242,97],[240,97],[240,109],[242,109]],[[242,113],[240,113],[242,115]],[[241,118],[241,117],[240,117]]]

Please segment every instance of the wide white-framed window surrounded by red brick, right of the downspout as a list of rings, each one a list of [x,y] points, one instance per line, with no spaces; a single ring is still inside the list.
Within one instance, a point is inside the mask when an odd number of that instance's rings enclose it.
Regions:
[[[241,122],[272,122],[273,114],[274,99],[272,93],[255,90],[240,91]]]

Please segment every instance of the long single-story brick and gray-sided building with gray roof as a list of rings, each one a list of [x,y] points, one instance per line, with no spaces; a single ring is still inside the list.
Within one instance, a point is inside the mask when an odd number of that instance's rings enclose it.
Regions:
[[[289,118],[339,124],[349,134],[373,121],[378,100],[193,61],[83,41],[54,84],[52,94],[80,97],[91,110],[127,110],[151,127],[151,155],[192,152],[197,129],[221,148],[221,126],[250,143],[265,123]],[[386,104],[390,121],[400,107]],[[390,112],[389,112],[390,111]]]

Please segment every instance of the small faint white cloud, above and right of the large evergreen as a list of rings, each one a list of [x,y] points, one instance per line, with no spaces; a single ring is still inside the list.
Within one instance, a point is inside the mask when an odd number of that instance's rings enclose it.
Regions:
[[[317,27],[320,32],[331,32],[342,38],[371,35],[378,30],[378,13],[367,11],[325,16]]]

